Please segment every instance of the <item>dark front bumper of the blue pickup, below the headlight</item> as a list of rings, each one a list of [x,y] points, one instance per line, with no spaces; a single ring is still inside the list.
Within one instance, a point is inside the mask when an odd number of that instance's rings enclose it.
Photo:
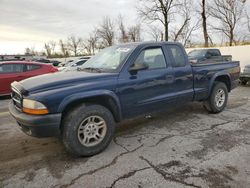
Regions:
[[[29,115],[18,111],[13,102],[9,104],[10,114],[21,130],[34,137],[53,137],[60,134],[61,114]]]

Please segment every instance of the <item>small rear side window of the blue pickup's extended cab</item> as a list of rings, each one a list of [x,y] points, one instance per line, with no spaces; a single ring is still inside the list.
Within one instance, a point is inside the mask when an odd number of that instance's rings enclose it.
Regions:
[[[176,45],[169,45],[169,49],[174,61],[173,66],[184,67],[186,65],[186,62],[182,49]]]

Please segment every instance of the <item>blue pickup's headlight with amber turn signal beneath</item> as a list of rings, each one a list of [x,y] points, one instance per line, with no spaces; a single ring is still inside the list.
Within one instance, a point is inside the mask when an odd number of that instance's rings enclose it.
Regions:
[[[33,115],[44,115],[49,113],[45,105],[30,99],[23,99],[23,111]]]

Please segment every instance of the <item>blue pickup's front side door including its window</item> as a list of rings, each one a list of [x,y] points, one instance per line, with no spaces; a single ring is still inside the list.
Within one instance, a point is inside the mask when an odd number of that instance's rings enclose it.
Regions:
[[[148,69],[120,75],[118,93],[125,117],[159,110],[175,100],[172,93],[174,72],[168,66],[166,57],[162,46],[145,48],[131,66],[144,63]]]

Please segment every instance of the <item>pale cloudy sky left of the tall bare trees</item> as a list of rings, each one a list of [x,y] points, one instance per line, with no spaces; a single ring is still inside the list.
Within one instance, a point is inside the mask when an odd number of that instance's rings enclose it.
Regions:
[[[44,42],[88,37],[102,17],[137,18],[135,0],[0,0],[0,54],[42,50]]]

